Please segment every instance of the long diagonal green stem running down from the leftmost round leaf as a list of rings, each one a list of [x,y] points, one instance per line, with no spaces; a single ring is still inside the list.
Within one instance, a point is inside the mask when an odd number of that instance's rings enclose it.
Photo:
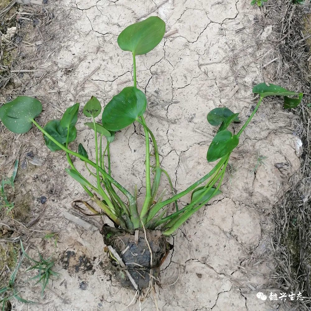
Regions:
[[[72,156],[76,156],[77,158],[81,159],[82,161],[90,164],[91,166],[93,166],[94,168],[96,168],[96,163],[94,163],[93,161],[87,159],[84,156],[81,156],[80,154],[78,154],[77,152],[74,152],[68,148],[66,148],[65,146],[63,146],[61,143],[59,143],[55,138],[53,138],[48,132],[46,132],[37,122],[35,122],[35,120],[31,120],[32,123],[35,124],[35,126],[46,136],[48,137],[52,142],[55,143],[55,145],[57,145],[58,147],[60,147],[63,151],[68,152],[69,154],[71,154]],[[111,181],[111,183],[113,183],[129,200],[129,202],[135,202],[135,198],[132,196],[131,193],[128,192],[128,190],[126,190],[123,186],[121,186],[116,180],[114,180],[111,176],[109,176],[104,169],[99,168],[100,172],[104,175],[105,178],[107,178],[109,181]]]

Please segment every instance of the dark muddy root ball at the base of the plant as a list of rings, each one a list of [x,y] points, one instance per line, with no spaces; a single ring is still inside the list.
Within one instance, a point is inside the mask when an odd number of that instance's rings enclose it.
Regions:
[[[114,267],[116,279],[123,287],[141,290],[150,287],[150,284],[152,285],[155,281],[157,282],[160,266],[172,246],[166,241],[160,230],[146,230],[147,241],[144,230],[137,230],[136,239],[136,230],[120,230],[108,225],[102,227],[101,234],[103,234],[104,243],[108,247],[107,252]],[[152,252],[152,266],[148,243]],[[113,252],[111,252],[111,247]],[[120,262],[120,258],[122,262]],[[150,280],[150,275],[153,276],[152,280]]]

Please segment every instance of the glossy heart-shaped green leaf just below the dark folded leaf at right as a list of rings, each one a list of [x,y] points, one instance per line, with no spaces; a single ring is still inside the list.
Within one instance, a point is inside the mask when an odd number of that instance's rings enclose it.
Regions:
[[[239,144],[239,137],[230,131],[218,132],[207,151],[207,161],[214,162],[231,152]]]

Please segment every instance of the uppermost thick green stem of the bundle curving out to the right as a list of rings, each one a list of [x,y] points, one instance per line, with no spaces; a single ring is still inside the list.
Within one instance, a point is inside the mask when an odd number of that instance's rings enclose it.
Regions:
[[[195,183],[193,183],[190,187],[188,187],[186,190],[177,193],[176,195],[174,195],[173,197],[163,201],[163,202],[158,202],[156,203],[151,210],[149,211],[149,215],[147,218],[147,222],[150,221],[158,211],[160,211],[160,209],[162,207],[165,207],[165,205],[168,205],[172,202],[174,202],[175,200],[178,200],[179,198],[183,197],[184,195],[186,195],[187,193],[189,193],[190,191],[194,190],[195,188],[197,188],[198,185],[200,185],[201,183],[203,183],[205,180],[207,180],[208,178],[211,177],[211,175],[213,175],[216,170],[221,167],[225,161],[227,160],[228,156],[224,156],[223,158],[220,159],[220,161],[215,165],[215,167],[209,172],[207,173],[205,176],[203,176],[201,179],[199,179],[198,181],[196,181]]]

